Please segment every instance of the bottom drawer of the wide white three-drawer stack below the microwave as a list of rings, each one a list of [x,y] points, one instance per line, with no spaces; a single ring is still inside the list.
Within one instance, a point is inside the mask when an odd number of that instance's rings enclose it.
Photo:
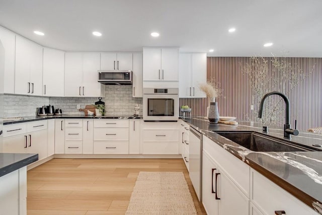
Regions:
[[[94,142],[94,154],[128,154],[129,142]]]

